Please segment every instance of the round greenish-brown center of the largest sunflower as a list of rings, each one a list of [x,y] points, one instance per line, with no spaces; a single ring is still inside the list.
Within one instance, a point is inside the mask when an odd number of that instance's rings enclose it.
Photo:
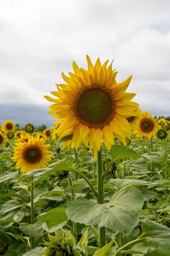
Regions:
[[[74,102],[73,111],[77,119],[90,128],[103,128],[112,121],[116,103],[110,90],[101,85],[88,85]]]

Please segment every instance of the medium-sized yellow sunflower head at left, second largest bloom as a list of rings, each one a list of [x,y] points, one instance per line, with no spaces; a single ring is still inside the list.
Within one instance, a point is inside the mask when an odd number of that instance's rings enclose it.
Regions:
[[[19,142],[14,146],[14,156],[11,158],[16,162],[16,168],[21,168],[21,173],[28,173],[33,169],[46,168],[51,160],[51,151],[47,150],[50,145],[44,145],[44,139],[38,139],[31,135],[28,142]]]

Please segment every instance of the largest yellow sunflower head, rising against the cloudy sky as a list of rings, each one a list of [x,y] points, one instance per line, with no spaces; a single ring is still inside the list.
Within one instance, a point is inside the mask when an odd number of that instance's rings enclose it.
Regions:
[[[69,72],[70,77],[62,73],[66,84],[57,85],[57,91],[51,92],[57,99],[45,98],[55,103],[50,106],[51,116],[64,119],[57,128],[59,141],[73,134],[71,148],[77,150],[83,141],[90,150],[94,148],[96,156],[102,140],[110,150],[113,135],[126,145],[126,137],[131,134],[126,118],[140,114],[135,111],[139,110],[138,104],[130,101],[136,94],[125,92],[132,76],[117,83],[113,62],[107,67],[108,61],[102,65],[98,58],[93,66],[88,56],[87,62],[88,70],[84,70],[73,61],[74,73]]]

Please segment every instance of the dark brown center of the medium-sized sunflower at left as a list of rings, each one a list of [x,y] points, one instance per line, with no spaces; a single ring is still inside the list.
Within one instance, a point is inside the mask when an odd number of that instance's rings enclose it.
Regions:
[[[42,158],[42,152],[37,146],[29,146],[24,150],[24,159],[27,163],[36,164]]]

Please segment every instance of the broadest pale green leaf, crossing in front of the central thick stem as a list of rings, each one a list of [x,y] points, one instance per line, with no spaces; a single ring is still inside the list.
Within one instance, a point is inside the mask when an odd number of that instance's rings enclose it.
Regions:
[[[108,227],[114,231],[130,234],[137,225],[144,198],[136,188],[124,189],[106,204],[86,199],[68,203],[66,213],[72,221]]]

